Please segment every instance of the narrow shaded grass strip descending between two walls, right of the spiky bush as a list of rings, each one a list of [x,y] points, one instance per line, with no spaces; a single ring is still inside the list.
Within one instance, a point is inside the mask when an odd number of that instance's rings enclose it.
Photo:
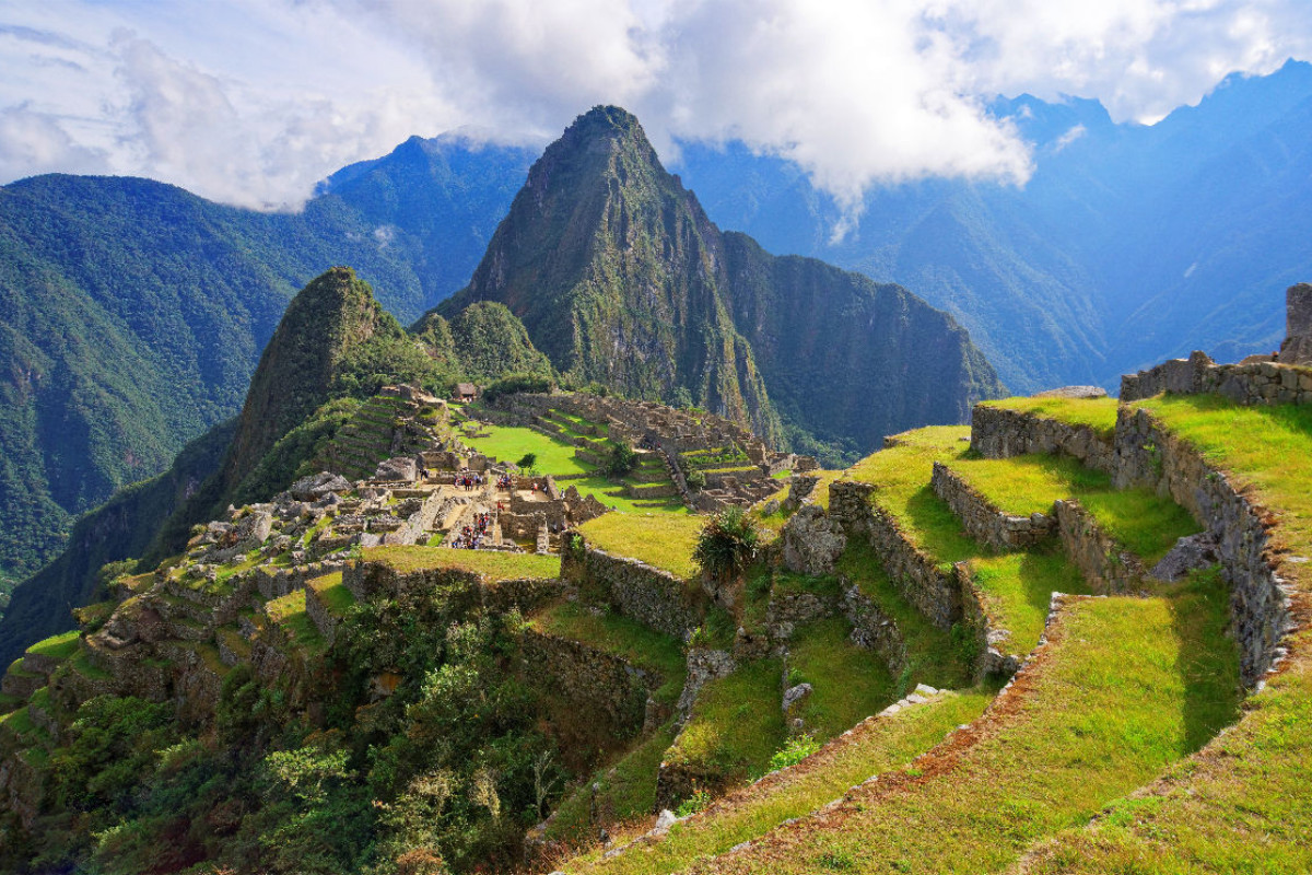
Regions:
[[[971,685],[974,653],[959,647],[950,631],[934,626],[905,600],[888,579],[870,544],[853,538],[838,558],[837,569],[854,582],[863,596],[890,617],[907,641],[908,669],[899,678],[899,693],[916,683],[941,689]]]

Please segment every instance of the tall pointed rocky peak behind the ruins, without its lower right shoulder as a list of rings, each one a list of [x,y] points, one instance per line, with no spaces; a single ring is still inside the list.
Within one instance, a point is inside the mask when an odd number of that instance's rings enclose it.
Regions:
[[[468,287],[440,312],[499,300],[563,374],[644,397],[684,388],[775,441],[720,261],[719,230],[661,168],[638,119],[597,108],[533,165]]]

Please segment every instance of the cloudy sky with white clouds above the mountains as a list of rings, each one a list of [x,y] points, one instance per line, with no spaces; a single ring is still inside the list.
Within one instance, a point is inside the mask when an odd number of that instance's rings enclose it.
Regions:
[[[1023,184],[993,96],[1118,121],[1312,58],[1305,0],[0,0],[0,182],[130,173],[261,209],[454,129],[544,143],[598,102],[743,139],[840,201],[924,176]]]

